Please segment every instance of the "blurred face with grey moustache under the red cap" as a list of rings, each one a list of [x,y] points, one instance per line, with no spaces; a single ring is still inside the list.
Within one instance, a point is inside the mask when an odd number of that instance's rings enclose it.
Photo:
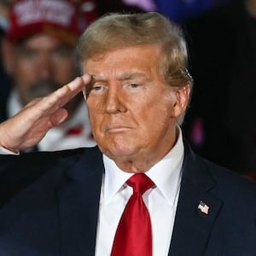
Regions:
[[[73,79],[73,47],[55,38],[38,34],[17,44],[14,50],[11,75],[23,104]]]

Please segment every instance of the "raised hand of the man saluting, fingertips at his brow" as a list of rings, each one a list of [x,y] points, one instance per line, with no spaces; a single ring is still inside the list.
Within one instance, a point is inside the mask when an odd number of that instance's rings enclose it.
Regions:
[[[0,124],[0,146],[19,152],[40,142],[50,128],[67,119],[67,110],[62,107],[89,82],[90,76],[84,74],[49,96],[28,103],[14,117]]]

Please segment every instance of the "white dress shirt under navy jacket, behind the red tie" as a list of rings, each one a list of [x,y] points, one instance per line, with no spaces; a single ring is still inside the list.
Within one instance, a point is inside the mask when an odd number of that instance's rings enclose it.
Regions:
[[[182,132],[179,129],[177,143],[172,150],[146,172],[155,184],[153,189],[148,189],[143,195],[152,224],[153,256],[165,256],[169,252],[180,189],[183,155]],[[127,186],[125,181],[133,173],[121,171],[106,155],[103,155],[103,162],[105,176],[102,181],[96,256],[110,255],[119,218],[132,194],[131,187]]]

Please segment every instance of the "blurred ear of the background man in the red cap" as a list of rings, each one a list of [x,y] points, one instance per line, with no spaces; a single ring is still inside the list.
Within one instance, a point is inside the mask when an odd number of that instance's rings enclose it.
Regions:
[[[11,75],[15,68],[15,46],[5,38],[2,41],[2,56],[5,72]]]

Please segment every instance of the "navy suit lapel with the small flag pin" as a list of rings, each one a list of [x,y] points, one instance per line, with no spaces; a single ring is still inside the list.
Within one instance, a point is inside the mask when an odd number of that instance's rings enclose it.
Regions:
[[[207,168],[209,166],[187,147],[170,256],[203,255],[222,205],[221,201],[209,193],[216,184]],[[208,212],[198,209],[200,201],[209,207]]]

